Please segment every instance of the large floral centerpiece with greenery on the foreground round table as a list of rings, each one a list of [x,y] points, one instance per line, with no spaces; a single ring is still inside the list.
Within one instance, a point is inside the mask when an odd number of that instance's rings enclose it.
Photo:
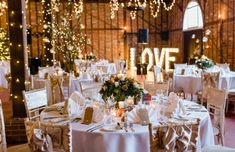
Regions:
[[[111,76],[109,80],[105,81],[100,94],[105,102],[112,99],[115,102],[124,101],[128,97],[134,97],[139,101],[144,93],[141,85],[132,78],[122,76]]]

